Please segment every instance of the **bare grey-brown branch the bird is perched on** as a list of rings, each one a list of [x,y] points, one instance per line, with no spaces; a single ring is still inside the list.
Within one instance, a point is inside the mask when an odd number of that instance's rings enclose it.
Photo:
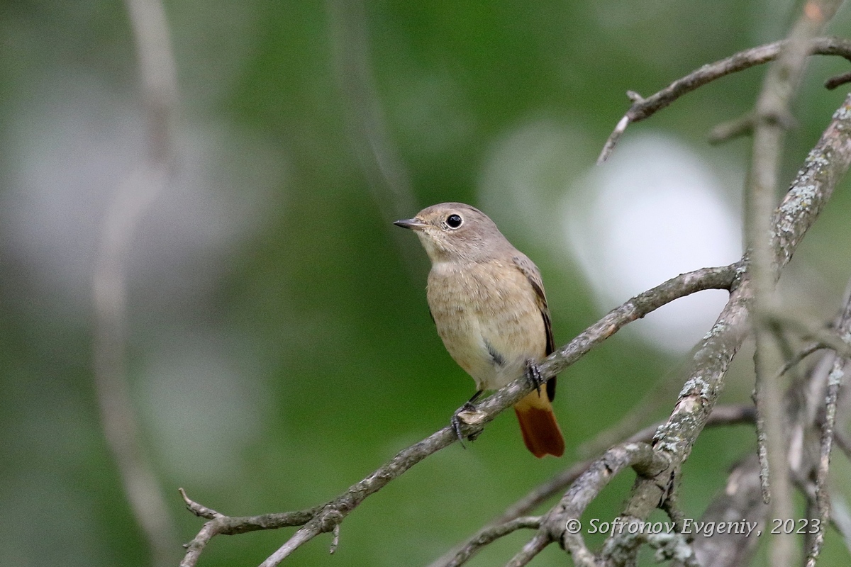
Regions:
[[[677,298],[682,298],[706,289],[729,289],[734,285],[737,269],[738,264],[731,264],[720,268],[697,269],[693,272],[677,275],[677,277],[665,281],[660,286],[638,294],[635,298],[631,298],[617,309],[613,309],[602,320],[597,321],[597,323],[586,329],[585,332],[580,333],[573,341],[545,359],[540,365],[542,376],[545,378],[555,376],[558,372],[574,364],[576,360],[579,360],[585,353],[597,346],[597,344],[603,343],[605,339],[611,337],[623,326],[631,321],[641,319],[666,303],[671,303],[671,301]],[[505,388],[501,388],[477,405],[477,411],[475,413],[476,422],[465,424],[462,427],[462,433],[467,437],[477,436],[477,434],[482,432],[488,422],[493,421],[494,417],[499,415],[501,411],[521,400],[523,396],[532,391],[532,388],[532,385],[525,378],[515,380],[505,386]],[[290,553],[294,552],[295,549],[306,543],[306,541],[310,541],[313,537],[321,533],[334,530],[334,527],[340,524],[365,498],[386,486],[392,479],[396,479],[405,473],[408,468],[413,467],[416,463],[425,459],[426,456],[440,451],[448,445],[452,445],[456,440],[457,438],[451,426],[440,429],[419,443],[399,451],[390,461],[376,469],[367,478],[355,485],[351,485],[349,490],[346,490],[346,492],[331,502],[311,509],[309,511],[311,513],[310,517],[305,518],[304,522],[300,522],[300,524],[303,524],[302,528],[289,541],[284,543],[277,552],[266,559],[266,562],[263,564],[264,567],[279,564]],[[193,513],[196,513],[196,509],[208,509],[197,503],[194,503],[195,506],[193,509],[193,506],[189,502],[187,502],[187,505],[190,506],[190,510]],[[209,516],[204,516],[203,514],[197,515],[209,518]],[[277,514],[272,515],[275,516]],[[233,530],[231,533],[283,527],[274,522],[260,524],[259,522],[248,522],[247,519],[243,518],[231,518],[223,515],[214,517],[213,521],[220,524],[226,523],[229,529]],[[215,524],[212,527],[209,524],[210,522],[205,524],[203,530],[188,544],[190,548],[181,563],[181,567],[193,567],[197,564],[200,550],[203,549],[203,546],[206,545],[210,538],[219,533],[228,533],[226,531],[220,531],[215,527],[219,524]]]

